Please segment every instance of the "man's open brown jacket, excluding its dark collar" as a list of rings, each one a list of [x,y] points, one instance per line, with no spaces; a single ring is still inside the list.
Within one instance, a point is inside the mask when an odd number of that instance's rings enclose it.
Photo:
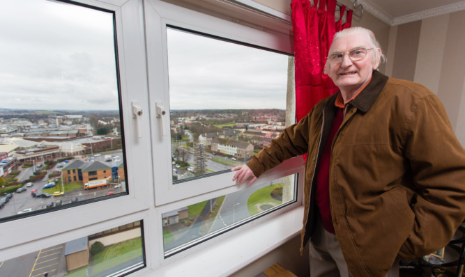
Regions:
[[[317,219],[312,193],[336,95],[314,106],[248,163],[254,174],[307,153],[302,248]],[[331,216],[353,276],[386,276],[447,244],[465,218],[465,151],[436,95],[374,71],[335,135]]]

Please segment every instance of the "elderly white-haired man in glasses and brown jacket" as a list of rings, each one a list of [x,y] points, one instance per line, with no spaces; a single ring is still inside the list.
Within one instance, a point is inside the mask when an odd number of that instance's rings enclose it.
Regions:
[[[314,276],[397,276],[447,244],[465,217],[465,152],[436,95],[376,71],[372,31],[336,33],[326,72],[340,91],[244,166],[251,184],[307,153],[302,248]]]

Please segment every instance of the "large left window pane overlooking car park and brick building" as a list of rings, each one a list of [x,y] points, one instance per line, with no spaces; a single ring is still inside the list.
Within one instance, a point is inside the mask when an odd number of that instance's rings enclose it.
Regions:
[[[114,33],[110,12],[2,3],[0,220],[125,193]]]

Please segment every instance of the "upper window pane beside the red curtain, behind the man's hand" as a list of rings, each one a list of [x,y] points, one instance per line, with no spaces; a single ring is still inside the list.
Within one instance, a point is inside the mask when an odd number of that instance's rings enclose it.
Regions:
[[[285,125],[288,56],[167,29],[174,182],[244,164]]]

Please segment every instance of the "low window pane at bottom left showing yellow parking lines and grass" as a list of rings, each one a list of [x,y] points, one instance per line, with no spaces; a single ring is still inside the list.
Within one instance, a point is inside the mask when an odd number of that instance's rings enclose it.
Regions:
[[[140,225],[123,225],[1,262],[0,276],[115,276],[145,266]]]

